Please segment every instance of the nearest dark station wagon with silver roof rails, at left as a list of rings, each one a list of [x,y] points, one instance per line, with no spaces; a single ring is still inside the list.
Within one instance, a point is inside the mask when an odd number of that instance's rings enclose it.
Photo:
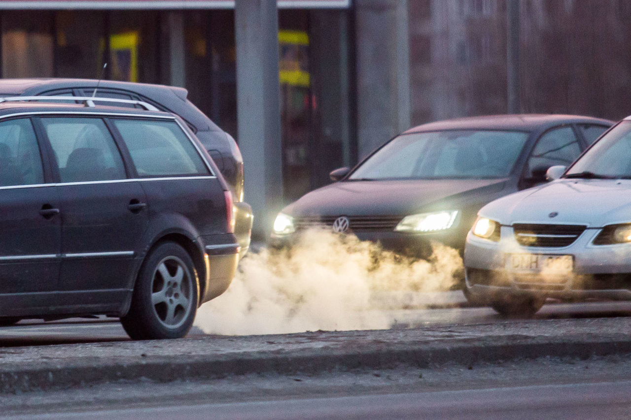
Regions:
[[[230,186],[176,115],[61,100],[0,99],[0,322],[104,314],[133,339],[186,335],[237,267]]]

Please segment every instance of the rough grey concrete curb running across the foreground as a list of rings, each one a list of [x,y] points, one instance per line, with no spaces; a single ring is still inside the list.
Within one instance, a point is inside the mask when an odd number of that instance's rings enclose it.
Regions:
[[[549,338],[549,337],[548,337]],[[631,341],[624,334],[606,337],[546,337],[504,335],[475,339],[451,339],[432,344],[387,344],[354,349],[320,347],[292,351],[251,351],[229,354],[136,356],[114,360],[70,358],[65,363],[8,363],[0,366],[0,391],[5,393],[84,387],[117,380],[202,380],[246,373],[317,373],[357,368],[390,368],[407,365],[427,368],[443,363],[469,365],[480,361],[550,357],[589,358],[631,354]],[[33,366],[37,365],[37,366]]]

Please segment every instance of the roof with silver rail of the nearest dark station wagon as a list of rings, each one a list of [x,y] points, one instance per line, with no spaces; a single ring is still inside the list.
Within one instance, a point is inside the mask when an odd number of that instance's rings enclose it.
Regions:
[[[1,102],[0,117],[14,114],[39,114],[39,113],[61,113],[61,114],[129,114],[146,117],[171,117],[173,114],[162,111],[147,111],[138,108],[112,107],[110,105],[95,105],[86,107],[82,103],[47,103],[47,102]]]

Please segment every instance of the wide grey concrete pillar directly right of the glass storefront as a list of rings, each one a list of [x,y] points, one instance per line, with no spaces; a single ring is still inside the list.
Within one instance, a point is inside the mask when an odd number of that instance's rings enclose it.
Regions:
[[[362,159],[410,125],[408,1],[355,0],[355,27]]]

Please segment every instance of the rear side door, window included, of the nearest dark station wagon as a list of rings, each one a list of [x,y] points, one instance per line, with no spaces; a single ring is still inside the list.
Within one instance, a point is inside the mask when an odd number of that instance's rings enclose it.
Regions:
[[[129,179],[121,152],[98,117],[41,117],[59,180],[62,216],[60,289],[91,291],[93,303],[125,296],[146,200]]]

